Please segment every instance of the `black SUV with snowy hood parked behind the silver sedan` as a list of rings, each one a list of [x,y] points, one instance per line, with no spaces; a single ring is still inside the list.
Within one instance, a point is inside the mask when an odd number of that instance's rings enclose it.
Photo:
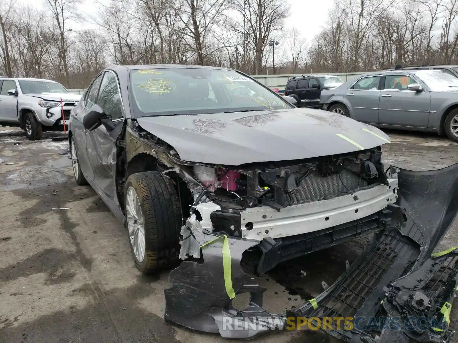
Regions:
[[[320,108],[320,93],[344,83],[335,75],[294,76],[288,80],[285,96],[292,96],[297,101],[297,107]]]

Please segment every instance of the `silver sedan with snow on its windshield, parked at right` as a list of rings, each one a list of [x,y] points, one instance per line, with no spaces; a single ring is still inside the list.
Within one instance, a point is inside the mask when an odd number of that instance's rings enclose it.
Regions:
[[[379,128],[435,132],[458,142],[458,79],[441,70],[366,73],[323,90],[320,104]]]

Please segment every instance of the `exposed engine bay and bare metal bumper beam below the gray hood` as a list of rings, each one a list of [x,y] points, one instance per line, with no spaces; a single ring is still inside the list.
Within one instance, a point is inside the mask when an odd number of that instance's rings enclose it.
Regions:
[[[173,147],[145,131],[131,139],[151,151],[164,176],[191,193],[182,204],[182,259],[200,258],[202,242],[196,241],[196,232],[205,230],[262,241],[252,249],[263,255],[261,264],[251,268],[264,273],[281,261],[402,220],[401,209],[394,205],[397,170],[384,167],[380,148],[220,166],[182,161]]]

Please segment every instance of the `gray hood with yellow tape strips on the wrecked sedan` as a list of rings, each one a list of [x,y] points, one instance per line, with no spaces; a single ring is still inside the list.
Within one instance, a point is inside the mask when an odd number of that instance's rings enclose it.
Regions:
[[[136,118],[185,161],[238,166],[300,160],[391,142],[379,129],[315,109]]]

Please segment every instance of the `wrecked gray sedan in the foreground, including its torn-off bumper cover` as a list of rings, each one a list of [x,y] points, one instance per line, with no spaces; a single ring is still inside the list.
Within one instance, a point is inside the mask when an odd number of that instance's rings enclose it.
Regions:
[[[174,268],[167,322],[252,338],[311,318],[348,342],[450,339],[458,247],[434,250],[458,212],[458,165],[386,166],[379,129],[201,66],[104,70],[71,111],[69,141],[76,182],[124,223],[136,267]],[[256,276],[367,234],[370,247],[321,295],[263,309]],[[244,311],[231,305],[241,293]],[[428,325],[390,329],[396,318]]]

